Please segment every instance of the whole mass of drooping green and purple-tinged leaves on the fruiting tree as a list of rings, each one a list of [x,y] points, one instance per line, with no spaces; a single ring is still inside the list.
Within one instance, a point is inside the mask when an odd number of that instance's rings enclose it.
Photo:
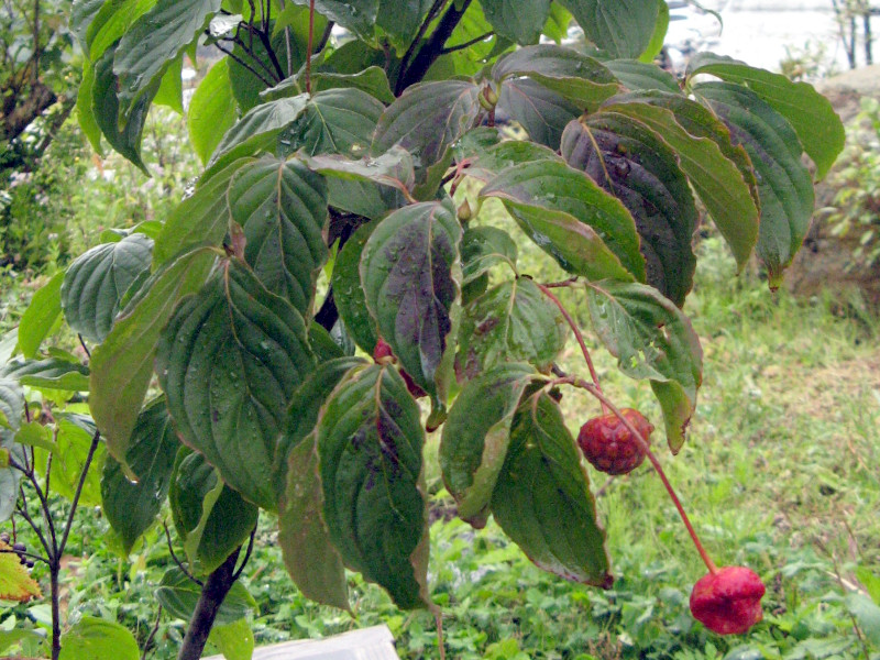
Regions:
[[[682,80],[651,64],[662,0],[301,4],[74,3],[80,123],[96,150],[106,140],[141,167],[151,105],[182,106],[184,58],[198,44],[226,54],[188,109],[206,167],[161,224],[113,235],[41,292],[23,360],[3,371],[10,455],[23,451],[23,386],[47,387],[54,370],[52,387],[88,392],[82,424],[106,447],[100,495],[127,550],[167,497],[205,581],[197,603],[178,597],[183,568],[158,592],[191,617],[182,658],[198,657],[206,605],[232,587],[261,509],[277,513],[308,597],[348,609],[350,569],[402,607],[433,607],[426,429],[442,428],[463,519],[492,515],[538,565],[608,586],[558,405],[560,387],[601,388],[556,365],[580,329],[520,271],[517,241],[571,274],[557,284],[581,292],[619,367],[650,382],[676,452],[702,381],[681,309],[696,198],[739,267],[757,252],[776,287],[813,210],[802,152],[822,177],[843,146],[804,84],[712,54]],[[538,43],[572,19],[592,45]],[[481,224],[490,199],[521,235]],[[41,354],[62,316],[92,346],[87,365]]]

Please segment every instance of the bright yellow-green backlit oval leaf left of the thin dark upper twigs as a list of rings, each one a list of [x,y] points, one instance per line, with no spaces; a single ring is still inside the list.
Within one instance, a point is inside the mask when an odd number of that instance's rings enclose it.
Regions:
[[[235,97],[229,82],[229,59],[215,64],[199,82],[189,101],[189,142],[202,163],[207,163],[220,140],[235,123]]]

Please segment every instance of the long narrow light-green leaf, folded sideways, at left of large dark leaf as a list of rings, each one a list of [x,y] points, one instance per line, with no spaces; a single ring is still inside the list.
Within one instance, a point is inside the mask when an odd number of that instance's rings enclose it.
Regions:
[[[205,282],[215,257],[213,251],[197,250],[157,270],[91,354],[89,408],[108,451],[123,466],[153,375],[160,331],[175,304]]]

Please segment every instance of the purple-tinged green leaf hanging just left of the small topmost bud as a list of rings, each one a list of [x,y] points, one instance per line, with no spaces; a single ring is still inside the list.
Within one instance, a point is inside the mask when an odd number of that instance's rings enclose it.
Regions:
[[[479,94],[476,85],[463,80],[413,85],[378,120],[373,154],[383,154],[394,145],[408,151],[421,186],[416,197],[433,197],[449,163],[450,147],[476,123]]]

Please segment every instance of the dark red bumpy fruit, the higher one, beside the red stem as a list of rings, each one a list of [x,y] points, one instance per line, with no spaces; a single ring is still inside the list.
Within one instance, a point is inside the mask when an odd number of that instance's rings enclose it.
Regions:
[[[653,431],[651,424],[632,408],[620,413],[647,442]],[[614,414],[590,419],[578,433],[578,444],[596,470],[608,474],[627,474],[645,460],[645,447]]]

